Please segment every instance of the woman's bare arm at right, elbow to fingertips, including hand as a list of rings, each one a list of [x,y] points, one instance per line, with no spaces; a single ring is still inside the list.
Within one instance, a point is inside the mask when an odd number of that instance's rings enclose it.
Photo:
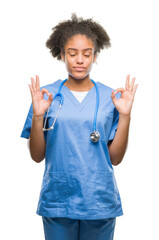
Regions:
[[[135,78],[131,84],[130,75],[127,76],[125,89],[118,88],[116,92],[112,91],[112,101],[119,112],[119,122],[116,135],[111,143],[108,143],[110,159],[113,165],[118,165],[126,152],[129,134],[129,125],[131,119],[131,109],[138,84],[134,86]],[[121,98],[117,99],[115,94],[121,92]]]

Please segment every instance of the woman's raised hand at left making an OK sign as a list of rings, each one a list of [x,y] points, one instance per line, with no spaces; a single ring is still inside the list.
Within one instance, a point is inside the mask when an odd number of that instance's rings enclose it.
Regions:
[[[36,75],[36,83],[34,81],[34,78],[31,78],[31,84],[29,84],[29,88],[32,96],[33,116],[43,117],[53,100],[52,93],[49,93],[49,90],[45,88],[43,88],[40,91],[39,76],[37,75]],[[44,100],[44,93],[46,93],[49,96],[47,101]]]

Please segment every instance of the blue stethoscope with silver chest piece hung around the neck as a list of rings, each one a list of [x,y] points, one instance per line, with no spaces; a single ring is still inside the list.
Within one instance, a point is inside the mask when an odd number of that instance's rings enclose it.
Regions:
[[[60,111],[60,108],[61,106],[63,105],[63,101],[64,101],[64,96],[63,94],[61,93],[61,88],[63,86],[63,84],[67,81],[67,79],[65,79],[64,81],[61,82],[60,86],[59,86],[59,89],[58,89],[58,92],[55,94],[55,96],[53,97],[53,101],[55,100],[55,98],[58,98],[60,97],[60,105],[59,105],[59,109],[57,111],[57,114],[56,114],[56,117],[55,117],[55,120],[52,124],[52,126],[50,128],[46,128],[46,120],[47,120],[47,116],[48,116],[48,112],[49,112],[49,109],[47,111],[47,114],[46,114],[46,118],[45,118],[45,122],[44,122],[44,127],[43,127],[43,131],[49,131],[51,129],[54,128],[54,125],[55,125],[55,122],[56,122],[56,119],[57,119],[57,116],[59,114],[59,111]],[[95,81],[93,81],[91,79],[91,81],[94,83],[95,85],[95,88],[96,88],[96,108],[95,108],[95,112],[94,112],[94,121],[93,121],[93,132],[90,134],[90,140],[92,142],[98,142],[99,141],[99,138],[100,138],[100,134],[98,131],[96,131],[96,123],[97,123],[97,113],[98,113],[98,107],[99,107],[99,89],[98,89],[98,86],[96,84]]]

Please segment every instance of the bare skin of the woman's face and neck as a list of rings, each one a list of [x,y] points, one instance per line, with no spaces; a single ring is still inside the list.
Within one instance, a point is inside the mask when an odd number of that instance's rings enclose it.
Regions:
[[[66,43],[65,54],[61,53],[61,58],[68,71],[68,80],[65,85],[71,90],[87,91],[94,86],[89,76],[96,60],[94,50],[92,40],[85,35],[77,34]],[[79,67],[84,69],[80,70]]]

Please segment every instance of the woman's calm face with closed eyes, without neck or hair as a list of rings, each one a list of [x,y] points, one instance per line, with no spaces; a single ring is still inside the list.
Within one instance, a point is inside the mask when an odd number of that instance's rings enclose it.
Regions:
[[[75,79],[88,77],[96,59],[92,40],[85,35],[74,35],[66,43],[64,51],[61,57],[69,75]]]

